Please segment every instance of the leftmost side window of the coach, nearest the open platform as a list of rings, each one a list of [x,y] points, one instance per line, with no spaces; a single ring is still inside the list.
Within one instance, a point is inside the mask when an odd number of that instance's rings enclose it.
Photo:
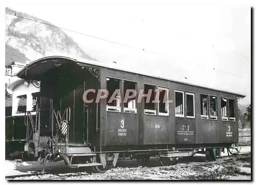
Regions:
[[[116,78],[106,78],[106,90],[109,92],[106,98],[106,110],[121,112],[121,96],[120,96],[121,80]]]

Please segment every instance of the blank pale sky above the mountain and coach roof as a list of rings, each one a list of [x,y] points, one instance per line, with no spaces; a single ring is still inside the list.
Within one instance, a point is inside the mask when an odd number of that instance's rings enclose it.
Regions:
[[[132,46],[63,30],[101,62],[242,93],[239,103],[250,103],[250,7],[138,5],[8,7]]]

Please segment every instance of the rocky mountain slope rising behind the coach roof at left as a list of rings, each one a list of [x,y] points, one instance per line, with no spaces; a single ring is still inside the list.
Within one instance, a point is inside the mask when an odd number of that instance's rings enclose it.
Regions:
[[[74,40],[52,23],[6,8],[6,65],[12,61],[30,63],[47,56],[65,56],[74,59],[96,60],[87,55]],[[51,25],[47,25],[51,24]]]

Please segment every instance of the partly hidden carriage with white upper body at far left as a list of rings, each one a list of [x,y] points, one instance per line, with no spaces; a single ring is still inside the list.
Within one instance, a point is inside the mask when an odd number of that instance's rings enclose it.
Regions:
[[[27,142],[27,127],[24,124],[25,113],[36,110],[38,88],[23,79],[17,79],[7,86],[12,97],[6,98],[6,158],[20,157]],[[35,112],[32,112],[35,115]]]

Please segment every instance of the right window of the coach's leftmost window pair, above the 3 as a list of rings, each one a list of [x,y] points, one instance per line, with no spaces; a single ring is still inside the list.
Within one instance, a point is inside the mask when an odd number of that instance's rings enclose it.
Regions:
[[[125,113],[137,113],[137,83],[131,81],[123,81],[124,89],[124,112]]]

